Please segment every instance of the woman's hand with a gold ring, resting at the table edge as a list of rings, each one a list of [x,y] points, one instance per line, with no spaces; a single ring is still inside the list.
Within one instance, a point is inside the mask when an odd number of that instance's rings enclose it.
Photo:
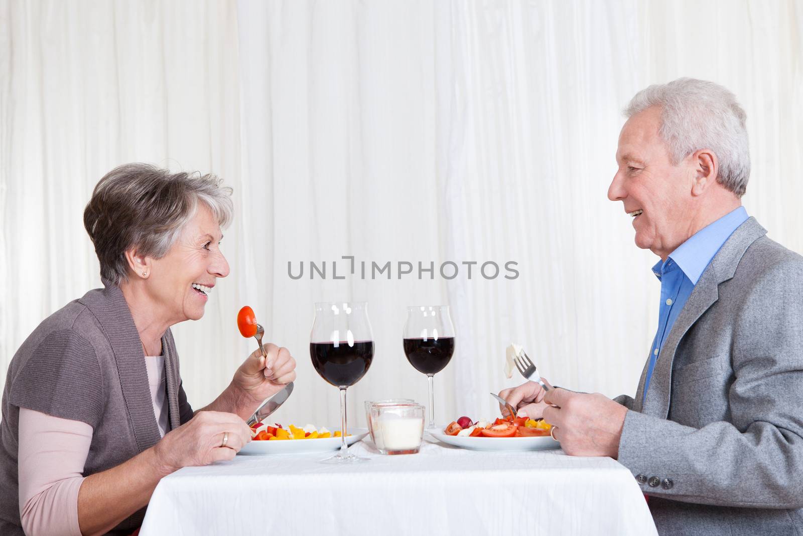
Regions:
[[[222,447],[226,432],[226,445]],[[249,441],[251,429],[238,415],[198,411],[192,419],[166,433],[153,448],[165,472],[173,473],[186,466],[231,460]]]

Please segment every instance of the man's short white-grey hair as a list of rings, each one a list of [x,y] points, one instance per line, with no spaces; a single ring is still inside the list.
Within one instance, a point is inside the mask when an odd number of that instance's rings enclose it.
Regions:
[[[679,78],[636,93],[625,115],[633,117],[652,106],[661,107],[658,132],[673,165],[699,149],[711,149],[719,159],[717,182],[744,195],[750,178],[747,114],[732,92],[713,82]]]

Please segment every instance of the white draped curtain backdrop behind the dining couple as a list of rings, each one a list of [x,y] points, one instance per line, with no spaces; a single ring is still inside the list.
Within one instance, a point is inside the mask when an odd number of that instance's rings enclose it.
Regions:
[[[739,97],[744,204],[803,252],[803,2],[0,0],[0,380],[39,321],[100,284],[84,205],[113,166],[143,161],[234,187],[231,274],[173,329],[195,407],[254,348],[234,322],[251,305],[299,362],[276,419],[336,423],[308,354],[312,303],[330,300],[370,304],[377,351],[349,389],[352,422],[365,399],[426,401],[402,353],[406,305],[452,307],[440,421],[495,414],[487,393],[519,383],[503,376],[510,342],[552,383],[632,395],[659,287],[605,194],[622,107],[679,76]],[[372,261],[392,278],[372,279]],[[414,267],[401,279],[400,261]]]

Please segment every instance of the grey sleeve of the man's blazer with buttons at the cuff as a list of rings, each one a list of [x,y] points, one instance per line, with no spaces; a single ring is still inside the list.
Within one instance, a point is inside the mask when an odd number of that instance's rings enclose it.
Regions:
[[[803,508],[801,286],[803,261],[796,256],[756,278],[733,311],[729,422],[698,429],[627,412],[618,460],[634,475],[658,477],[661,485],[646,493],[707,505]]]

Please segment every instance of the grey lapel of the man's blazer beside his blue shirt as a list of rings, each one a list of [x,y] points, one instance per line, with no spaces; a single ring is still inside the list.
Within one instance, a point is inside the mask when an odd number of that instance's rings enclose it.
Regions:
[[[642,379],[634,401],[634,407],[638,408],[638,411],[654,415],[659,419],[666,419],[666,416],[669,415],[672,364],[675,361],[675,351],[678,349],[681,339],[699,317],[702,317],[703,313],[719,299],[719,284],[733,277],[733,274],[736,273],[736,266],[750,244],[766,233],[767,231],[756,222],[755,218],[748,218],[736,228],[736,231],[733,231],[722,248],[719,248],[719,252],[700,276],[686,305],[683,306],[669,335],[666,336],[661,353],[658,354],[652,378],[650,378],[650,388],[647,390],[646,399],[643,396],[646,367],[642,372]],[[644,400],[643,407],[642,399]]]

